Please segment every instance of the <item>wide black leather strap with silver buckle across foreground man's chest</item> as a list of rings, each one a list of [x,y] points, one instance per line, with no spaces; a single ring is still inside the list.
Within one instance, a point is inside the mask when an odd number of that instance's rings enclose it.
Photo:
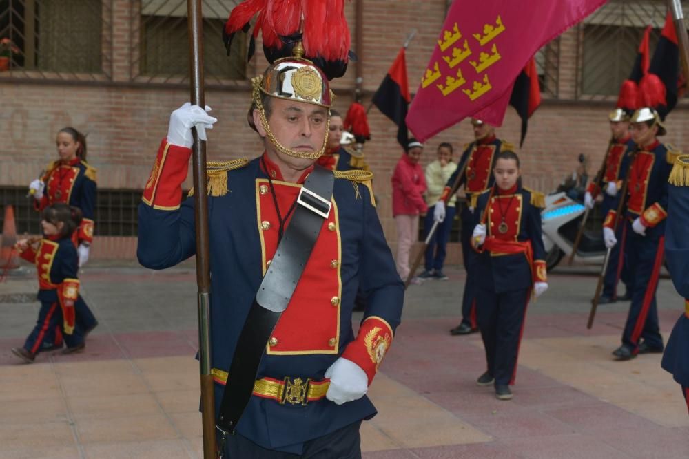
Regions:
[[[294,216],[256,292],[234,350],[220,404],[220,434],[234,433],[254,392],[254,381],[265,346],[289,304],[323,220],[330,212],[334,180],[331,171],[316,166],[302,186]]]

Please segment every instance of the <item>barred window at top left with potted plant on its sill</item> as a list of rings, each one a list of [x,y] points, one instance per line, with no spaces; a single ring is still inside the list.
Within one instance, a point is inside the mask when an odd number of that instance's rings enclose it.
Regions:
[[[0,75],[94,78],[109,75],[112,0],[0,0],[0,39],[13,49]]]

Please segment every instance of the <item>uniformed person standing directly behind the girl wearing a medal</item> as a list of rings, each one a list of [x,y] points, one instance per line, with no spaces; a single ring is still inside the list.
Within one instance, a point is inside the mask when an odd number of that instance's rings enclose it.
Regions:
[[[466,203],[462,208],[462,261],[464,263],[464,270],[466,270],[466,281],[464,281],[464,296],[462,297],[462,321],[455,328],[450,330],[450,334],[469,334],[477,332],[476,322],[476,295],[475,283],[471,281],[470,261],[472,255],[471,250],[471,233],[473,231],[473,207],[472,202],[478,198],[478,195],[493,186],[495,178],[493,178],[493,167],[495,166],[495,158],[497,153],[502,149],[513,150],[514,147],[500,140],[495,136],[495,127],[489,125],[477,118],[471,118],[471,125],[475,141],[466,145],[462,158],[460,158],[459,166],[451,175],[450,179],[445,185],[445,189],[440,196],[440,200],[435,204],[433,210],[433,218],[438,222],[445,219],[445,203],[449,200],[449,195],[452,190],[457,175],[464,171],[464,175],[460,177],[460,182],[456,189],[464,184],[464,191],[466,193]],[[464,169],[466,164],[466,169]],[[473,200],[473,201],[472,201]]]

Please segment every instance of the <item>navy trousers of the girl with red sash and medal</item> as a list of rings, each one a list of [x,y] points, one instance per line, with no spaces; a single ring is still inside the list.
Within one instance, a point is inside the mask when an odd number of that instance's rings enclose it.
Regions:
[[[476,289],[478,328],[486,349],[486,367],[495,385],[514,384],[530,288],[495,293]]]

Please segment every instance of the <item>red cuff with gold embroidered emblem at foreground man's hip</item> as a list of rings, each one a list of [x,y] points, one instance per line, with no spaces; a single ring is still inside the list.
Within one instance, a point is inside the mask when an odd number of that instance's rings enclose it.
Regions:
[[[361,324],[356,339],[347,345],[342,357],[359,365],[366,372],[371,385],[392,339],[392,328],[384,319],[377,316],[367,317]]]

